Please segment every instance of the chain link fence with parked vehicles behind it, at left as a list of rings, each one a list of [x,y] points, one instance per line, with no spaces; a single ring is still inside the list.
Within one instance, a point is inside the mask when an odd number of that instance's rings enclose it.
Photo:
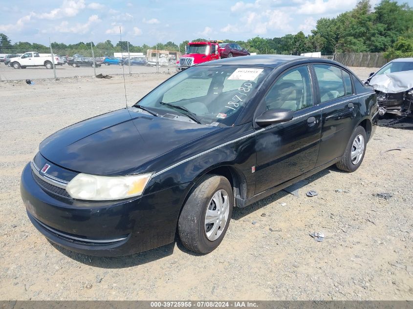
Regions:
[[[0,81],[48,79],[98,74],[174,73],[180,53],[147,50],[134,53],[119,48],[2,48]],[[53,55],[53,57],[52,57]]]

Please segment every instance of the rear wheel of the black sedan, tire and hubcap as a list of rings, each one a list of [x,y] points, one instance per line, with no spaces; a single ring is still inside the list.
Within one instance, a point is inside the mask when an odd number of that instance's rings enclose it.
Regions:
[[[346,172],[354,172],[363,162],[366,145],[366,130],[362,126],[358,126],[351,134],[343,158],[336,163],[336,166]]]

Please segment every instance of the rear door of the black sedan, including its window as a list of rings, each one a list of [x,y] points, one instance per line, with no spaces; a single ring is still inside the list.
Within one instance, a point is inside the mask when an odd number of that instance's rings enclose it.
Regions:
[[[331,64],[313,64],[318,101],[323,115],[320,153],[316,166],[344,154],[360,105],[350,75]]]

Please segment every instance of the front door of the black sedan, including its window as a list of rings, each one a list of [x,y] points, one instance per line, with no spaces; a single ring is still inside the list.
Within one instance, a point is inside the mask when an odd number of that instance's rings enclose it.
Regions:
[[[260,104],[294,110],[291,121],[257,128],[255,194],[314,168],[321,137],[321,110],[307,65],[284,72]],[[262,107],[261,107],[262,108]]]

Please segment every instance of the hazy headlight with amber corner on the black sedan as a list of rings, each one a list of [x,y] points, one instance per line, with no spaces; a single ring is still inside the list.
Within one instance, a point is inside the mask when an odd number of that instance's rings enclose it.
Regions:
[[[74,199],[89,201],[121,200],[141,195],[152,173],[130,176],[97,176],[80,173],[66,186]]]

